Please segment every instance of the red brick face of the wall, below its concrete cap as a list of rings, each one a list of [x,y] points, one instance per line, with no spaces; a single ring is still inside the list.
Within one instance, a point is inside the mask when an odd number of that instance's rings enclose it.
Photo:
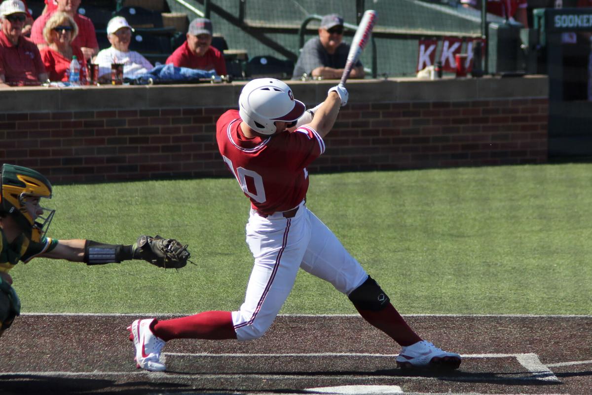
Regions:
[[[354,103],[309,170],[543,163],[544,98]],[[0,160],[53,182],[227,176],[215,144],[225,108],[0,114]]]

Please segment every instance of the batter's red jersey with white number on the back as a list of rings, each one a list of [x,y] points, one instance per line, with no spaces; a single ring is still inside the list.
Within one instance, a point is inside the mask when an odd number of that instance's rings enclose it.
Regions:
[[[301,126],[272,136],[245,137],[239,111],[226,111],[216,123],[218,149],[251,206],[263,213],[287,211],[306,197],[306,166],[325,150],[316,130]]]

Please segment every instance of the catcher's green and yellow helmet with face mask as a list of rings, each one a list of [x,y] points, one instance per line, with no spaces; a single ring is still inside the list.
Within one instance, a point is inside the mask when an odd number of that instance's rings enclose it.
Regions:
[[[45,235],[56,210],[40,207],[43,214],[33,217],[25,206],[27,197],[52,198],[52,184],[40,172],[22,166],[2,165],[0,174],[0,214],[11,215],[29,239]],[[36,219],[42,222],[37,222]]]

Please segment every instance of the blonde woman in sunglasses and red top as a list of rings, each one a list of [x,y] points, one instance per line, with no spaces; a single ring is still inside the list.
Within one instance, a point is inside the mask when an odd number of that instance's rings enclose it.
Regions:
[[[78,35],[78,26],[66,12],[54,12],[47,20],[43,28],[43,38],[49,46],[41,48],[41,59],[50,81],[68,81],[72,56],[78,58],[81,66],[80,81],[85,78],[83,76],[83,68],[86,67],[84,55],[79,47],[72,44],[76,35]]]

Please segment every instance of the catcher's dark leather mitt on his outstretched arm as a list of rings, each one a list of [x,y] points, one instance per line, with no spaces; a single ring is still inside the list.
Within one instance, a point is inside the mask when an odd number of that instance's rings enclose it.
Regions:
[[[133,250],[135,259],[144,259],[146,262],[165,269],[180,269],[187,264],[191,257],[186,245],[182,245],[176,239],[163,239],[158,235],[138,237],[133,245]]]

